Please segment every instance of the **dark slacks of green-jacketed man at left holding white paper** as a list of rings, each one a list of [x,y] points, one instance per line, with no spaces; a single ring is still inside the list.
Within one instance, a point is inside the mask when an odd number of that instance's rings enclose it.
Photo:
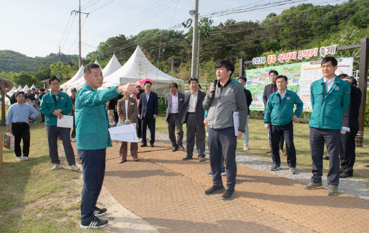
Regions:
[[[46,126],[46,135],[49,142],[49,154],[51,162],[60,164],[59,154],[58,154],[58,135],[62,138],[65,157],[69,166],[75,165],[76,161],[74,158],[74,152],[72,144],[70,143],[70,129],[57,127],[57,126]]]

